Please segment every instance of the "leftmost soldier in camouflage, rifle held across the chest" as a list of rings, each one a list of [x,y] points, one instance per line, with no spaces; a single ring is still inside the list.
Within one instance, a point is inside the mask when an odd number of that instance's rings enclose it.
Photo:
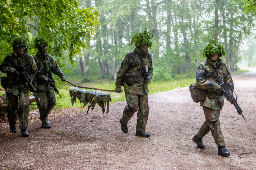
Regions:
[[[19,117],[21,134],[23,137],[28,137],[28,113],[29,113],[29,86],[20,75],[18,75],[15,66],[11,62],[11,58],[20,66],[24,66],[26,72],[33,80],[38,71],[33,57],[27,54],[26,41],[18,37],[13,42],[13,52],[7,54],[4,61],[0,65],[0,71],[7,73],[7,118],[10,126],[10,131],[16,133],[15,124],[17,115]]]

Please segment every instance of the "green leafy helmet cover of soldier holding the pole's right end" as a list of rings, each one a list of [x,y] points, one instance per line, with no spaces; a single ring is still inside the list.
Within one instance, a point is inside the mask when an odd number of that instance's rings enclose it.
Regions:
[[[148,48],[151,48],[152,42],[150,41],[150,39],[153,36],[154,36],[154,32],[153,34],[149,34],[147,32],[147,29],[145,29],[143,33],[135,34],[132,37],[131,43],[129,45],[131,46],[134,44],[135,46],[140,46],[142,44],[148,44]]]

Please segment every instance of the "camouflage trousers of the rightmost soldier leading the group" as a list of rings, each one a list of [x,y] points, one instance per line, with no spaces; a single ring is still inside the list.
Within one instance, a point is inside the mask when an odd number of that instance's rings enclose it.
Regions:
[[[220,129],[220,110],[203,107],[205,122],[199,129],[197,136],[203,138],[210,130],[217,146],[225,146],[223,134]]]

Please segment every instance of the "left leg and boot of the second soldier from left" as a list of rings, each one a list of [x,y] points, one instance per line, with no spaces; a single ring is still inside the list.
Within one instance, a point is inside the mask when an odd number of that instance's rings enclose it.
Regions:
[[[47,123],[47,107],[48,107],[48,99],[47,99],[47,91],[45,90],[37,90],[36,91],[40,101],[36,98],[36,104],[38,106],[40,119],[42,122],[42,128],[51,128]]]

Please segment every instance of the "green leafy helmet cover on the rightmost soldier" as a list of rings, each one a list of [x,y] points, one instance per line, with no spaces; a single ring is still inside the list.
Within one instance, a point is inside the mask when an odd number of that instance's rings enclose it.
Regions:
[[[222,45],[218,45],[217,41],[213,38],[209,39],[209,43],[204,47],[203,57],[208,57],[210,53],[218,53],[220,57],[225,55],[225,51]]]

